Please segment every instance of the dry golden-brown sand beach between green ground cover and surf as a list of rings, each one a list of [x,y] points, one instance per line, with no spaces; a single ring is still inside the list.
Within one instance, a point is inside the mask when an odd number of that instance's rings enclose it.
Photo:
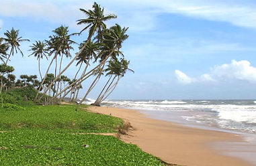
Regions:
[[[134,130],[121,139],[138,145],[143,151],[160,157],[167,163],[189,166],[250,165],[241,159],[220,155],[219,151],[211,148],[211,144],[215,142],[243,141],[239,135],[155,120],[137,110],[96,106],[89,107],[89,110],[111,114],[130,122]]]

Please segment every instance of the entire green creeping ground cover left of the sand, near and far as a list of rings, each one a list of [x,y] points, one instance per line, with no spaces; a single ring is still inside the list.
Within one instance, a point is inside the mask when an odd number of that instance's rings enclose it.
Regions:
[[[74,134],[115,133],[120,118],[76,105],[23,107],[0,108],[0,165],[163,165],[115,137]]]

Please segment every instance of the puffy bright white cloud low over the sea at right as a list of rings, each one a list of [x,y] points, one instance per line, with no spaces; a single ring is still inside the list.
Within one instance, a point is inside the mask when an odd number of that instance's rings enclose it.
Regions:
[[[244,80],[256,82],[256,68],[247,60],[232,60],[230,64],[214,66],[209,74],[191,78],[180,70],[175,70],[175,76],[182,84],[193,82],[220,82],[224,80]]]

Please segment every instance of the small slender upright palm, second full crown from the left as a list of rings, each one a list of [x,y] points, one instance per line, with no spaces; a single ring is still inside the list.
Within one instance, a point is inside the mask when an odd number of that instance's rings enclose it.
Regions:
[[[42,74],[41,74],[41,70],[40,70],[40,60],[43,59],[44,57],[48,60],[47,44],[45,42],[36,41],[35,44],[30,46],[30,48],[31,48],[30,51],[32,51],[32,54],[30,54],[30,56],[34,55],[35,58],[38,60],[38,70],[39,70],[40,78],[42,80]]]

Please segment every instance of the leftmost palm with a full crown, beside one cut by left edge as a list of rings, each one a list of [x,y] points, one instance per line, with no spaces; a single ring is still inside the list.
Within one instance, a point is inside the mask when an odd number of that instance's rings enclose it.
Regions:
[[[5,42],[7,42],[9,48],[11,48],[10,52],[9,52],[9,56],[5,62],[5,64],[7,64],[7,62],[9,61],[10,57],[14,55],[14,53],[17,54],[17,51],[19,51],[22,56],[24,56],[22,50],[20,50],[19,46],[20,46],[20,42],[25,42],[25,41],[30,41],[29,39],[22,39],[22,37],[19,36],[19,30],[15,30],[15,29],[11,29],[11,31],[6,31],[4,33],[5,38],[3,38],[5,40]]]

